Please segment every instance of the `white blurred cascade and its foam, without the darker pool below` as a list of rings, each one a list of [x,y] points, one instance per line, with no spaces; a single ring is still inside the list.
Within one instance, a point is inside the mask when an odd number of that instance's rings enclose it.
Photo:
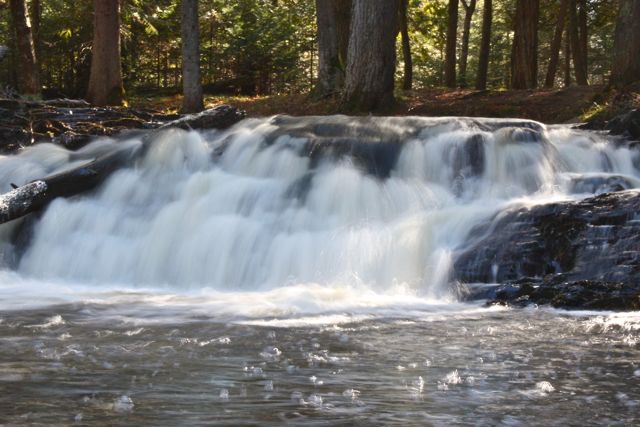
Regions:
[[[332,120],[350,123],[299,122]],[[282,130],[272,119],[161,134],[95,193],[48,207],[18,265],[0,272],[0,308],[138,299],[250,317],[435,309],[456,299],[450,268],[474,225],[509,205],[585,197],[571,194],[582,177],[640,183],[637,151],[568,128],[531,122],[545,139],[518,142],[512,128],[467,120],[368,120],[378,139],[410,134],[388,178],[350,157],[313,163],[299,132],[266,144]],[[347,126],[350,136],[362,122]],[[485,141],[478,176],[465,154],[474,134]],[[76,154],[41,144],[1,157],[2,190],[113,144]],[[309,177],[308,191],[296,193]],[[5,259],[16,226],[0,227]]]

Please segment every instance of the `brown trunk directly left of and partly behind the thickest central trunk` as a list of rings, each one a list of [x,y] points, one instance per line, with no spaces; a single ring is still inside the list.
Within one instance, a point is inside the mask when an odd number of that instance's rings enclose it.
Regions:
[[[331,96],[344,84],[349,46],[351,0],[316,0],[318,81],[316,93]]]

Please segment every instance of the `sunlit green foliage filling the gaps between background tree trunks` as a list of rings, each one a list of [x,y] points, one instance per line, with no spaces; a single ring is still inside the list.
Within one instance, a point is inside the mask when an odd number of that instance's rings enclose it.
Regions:
[[[417,89],[442,86],[448,0],[409,0],[409,35]],[[483,0],[473,16],[467,81],[477,73]],[[544,78],[560,0],[541,0],[539,76]],[[181,84],[180,1],[124,0],[122,67],[127,93],[178,93]],[[305,93],[317,72],[314,0],[200,0],[201,67],[209,93]],[[82,97],[89,77],[92,2],[43,0],[38,48],[44,94]],[[488,81],[510,80],[515,0],[493,1]],[[589,79],[605,83],[611,68],[616,0],[587,0]],[[460,6],[461,38],[464,10]],[[398,37],[399,40],[399,37]],[[0,83],[15,83],[16,55],[8,2],[0,0],[0,44],[13,52],[0,63]],[[561,54],[561,62],[564,62]],[[402,54],[398,43],[402,75]],[[561,85],[561,72],[557,77]]]

